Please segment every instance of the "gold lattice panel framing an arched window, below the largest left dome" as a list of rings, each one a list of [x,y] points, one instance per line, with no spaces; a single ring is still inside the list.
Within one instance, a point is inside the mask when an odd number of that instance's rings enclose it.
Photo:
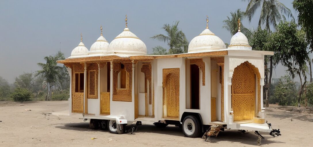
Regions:
[[[118,89],[118,73],[121,71],[121,64],[124,64],[129,78],[126,79],[126,88]],[[113,62],[113,101],[132,101],[132,63],[131,62]]]

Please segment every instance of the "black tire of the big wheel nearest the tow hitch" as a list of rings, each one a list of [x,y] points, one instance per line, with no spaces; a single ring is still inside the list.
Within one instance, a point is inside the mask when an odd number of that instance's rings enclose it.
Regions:
[[[187,126],[184,126],[184,124],[190,123],[189,125],[192,125],[192,122],[194,124],[194,126],[192,126],[192,130],[194,130],[194,132],[192,134],[187,134],[186,131],[189,129],[187,128]],[[186,124],[186,125],[188,125],[188,124]],[[192,115],[186,116],[184,118],[184,120],[182,121],[182,132],[187,137],[191,137],[191,138],[198,137],[200,135],[200,123],[199,123],[198,119]]]

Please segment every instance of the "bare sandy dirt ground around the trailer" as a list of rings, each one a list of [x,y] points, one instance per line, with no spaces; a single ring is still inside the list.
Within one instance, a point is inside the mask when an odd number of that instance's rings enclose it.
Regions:
[[[267,120],[281,130],[282,136],[261,133],[265,137],[261,146],[313,145],[312,114],[290,112],[276,105],[267,108],[266,113]],[[82,115],[68,115],[68,101],[0,102],[0,146],[257,146],[258,137],[253,132],[226,130],[205,142],[184,137],[175,126],[160,129],[141,125],[136,135],[117,135],[91,130],[89,122],[81,118]]]

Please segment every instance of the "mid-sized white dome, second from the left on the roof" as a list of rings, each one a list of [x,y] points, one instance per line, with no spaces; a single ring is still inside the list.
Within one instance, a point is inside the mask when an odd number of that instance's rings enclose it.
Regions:
[[[103,36],[100,36],[97,41],[91,45],[89,54],[106,54],[109,48],[109,42]]]

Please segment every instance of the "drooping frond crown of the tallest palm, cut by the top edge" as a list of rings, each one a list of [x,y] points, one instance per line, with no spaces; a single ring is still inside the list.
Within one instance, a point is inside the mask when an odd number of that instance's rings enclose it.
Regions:
[[[281,13],[283,12],[285,15],[295,20],[290,9],[287,8],[281,2],[279,2],[278,0],[249,0],[249,1],[250,2],[247,6],[245,15],[249,18],[249,21],[251,22],[251,18],[254,16],[255,12],[257,12],[257,10],[261,8],[258,27],[261,27],[261,25],[265,24],[265,29],[268,32],[270,32],[271,25],[276,29],[277,22],[280,22],[282,17],[285,18],[284,15],[281,15]]]

